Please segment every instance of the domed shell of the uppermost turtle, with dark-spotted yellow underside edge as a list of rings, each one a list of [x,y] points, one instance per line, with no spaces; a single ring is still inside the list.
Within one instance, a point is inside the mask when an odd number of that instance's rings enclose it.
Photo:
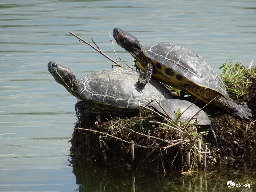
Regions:
[[[186,87],[186,84],[192,82],[206,89],[214,90],[226,99],[229,98],[220,76],[196,52],[169,42],[147,45],[142,47],[141,51],[155,64],[158,74],[154,77],[165,76],[167,79],[173,80],[172,76],[176,72],[178,74],[176,78],[183,79],[183,85],[179,84],[178,87]]]

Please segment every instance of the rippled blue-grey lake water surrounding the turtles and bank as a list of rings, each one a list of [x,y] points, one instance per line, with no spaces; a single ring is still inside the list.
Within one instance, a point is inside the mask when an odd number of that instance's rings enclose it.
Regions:
[[[226,61],[226,54],[228,60],[236,57],[234,62],[246,67],[256,59],[253,7],[256,7],[253,0],[1,1],[0,191],[100,190],[101,182],[92,178],[98,175],[98,169],[103,170],[99,174],[104,176],[104,167],[86,168],[90,173],[79,174],[90,179],[83,178],[80,182],[80,177],[69,166],[71,144],[68,141],[76,123],[76,98],[55,82],[47,64],[58,62],[81,78],[95,70],[111,68],[113,63],[68,31],[90,42],[92,37],[112,59],[115,57],[109,33],[112,34],[115,27],[132,33],[142,45],[173,42],[197,52],[220,73],[218,68]],[[117,56],[132,65],[132,56],[113,43]],[[217,184],[219,190],[228,189],[226,182],[235,179],[232,178],[234,171],[246,174],[247,181],[239,182],[252,182],[253,173],[245,172],[242,167],[232,167],[229,175],[216,174],[217,178],[222,175],[225,181]],[[251,168],[255,171],[255,166]],[[108,191],[133,190],[129,182],[134,177],[135,191],[169,191],[174,186],[179,191],[190,189],[184,180],[177,181],[183,178],[180,173],[174,176],[168,173],[170,177],[167,174],[168,177],[163,178],[154,173],[149,181],[156,182],[155,186],[160,181],[170,182],[165,188],[154,189],[146,182],[147,174],[136,176],[138,173],[127,170],[119,174],[123,180],[116,181],[125,189],[109,188],[111,182],[103,183]],[[180,175],[178,179],[177,175]],[[194,178],[190,179],[192,182]],[[127,185],[124,180],[129,180]],[[84,187],[86,185],[90,187]],[[255,183],[253,185],[256,190]],[[214,184],[208,186],[210,191]]]

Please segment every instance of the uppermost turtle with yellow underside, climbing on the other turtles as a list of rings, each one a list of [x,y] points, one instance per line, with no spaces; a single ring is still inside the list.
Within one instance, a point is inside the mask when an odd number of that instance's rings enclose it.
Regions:
[[[169,42],[142,46],[136,37],[118,28],[114,28],[113,36],[135,58],[136,68],[144,70],[139,84],[147,84],[152,76],[205,103],[224,108],[241,120],[252,118],[250,108],[229,101],[220,76],[196,52]]]

